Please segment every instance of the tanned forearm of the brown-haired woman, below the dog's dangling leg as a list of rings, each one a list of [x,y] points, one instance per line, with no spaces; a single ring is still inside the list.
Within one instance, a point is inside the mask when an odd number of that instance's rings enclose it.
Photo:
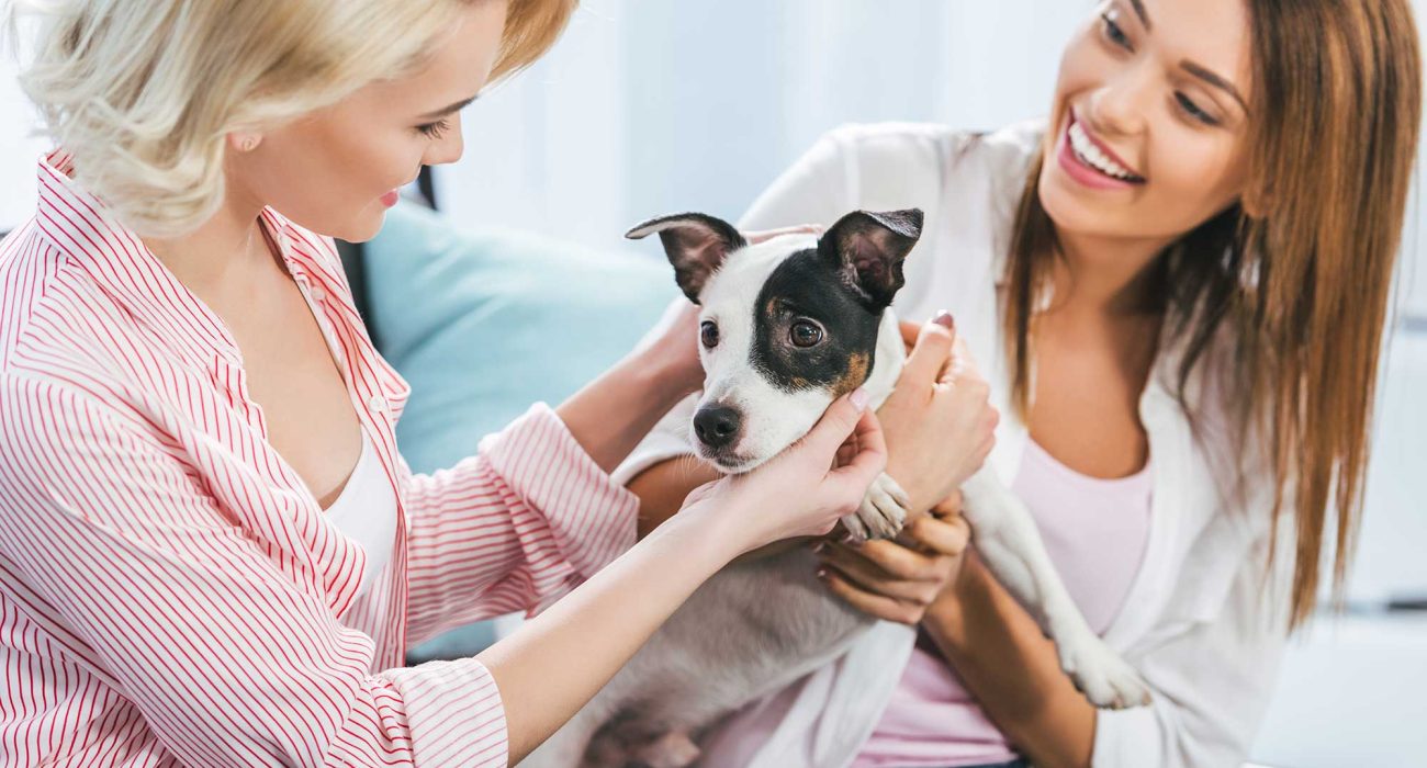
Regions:
[[[923,628],[990,719],[1045,768],[1090,764],[1095,708],[1060,670],[1055,644],[969,557]]]

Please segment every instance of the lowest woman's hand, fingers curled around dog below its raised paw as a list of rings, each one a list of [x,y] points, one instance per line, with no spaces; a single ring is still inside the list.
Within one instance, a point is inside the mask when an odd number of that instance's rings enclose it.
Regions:
[[[956,588],[970,541],[962,518],[962,494],[953,492],[932,514],[913,518],[896,540],[852,547],[822,541],[818,578],[853,608],[899,624],[916,625],[926,610]]]

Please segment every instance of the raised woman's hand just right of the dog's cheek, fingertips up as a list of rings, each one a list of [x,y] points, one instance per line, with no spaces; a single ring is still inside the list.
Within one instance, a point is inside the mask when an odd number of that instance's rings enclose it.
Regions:
[[[956,341],[952,315],[940,313],[916,328],[896,390],[878,410],[886,471],[912,498],[912,515],[950,495],[986,461],[999,420],[989,397],[966,345]]]

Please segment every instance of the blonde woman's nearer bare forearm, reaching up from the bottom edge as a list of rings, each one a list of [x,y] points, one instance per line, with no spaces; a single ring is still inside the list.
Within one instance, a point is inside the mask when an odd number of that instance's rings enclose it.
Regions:
[[[718,520],[674,520],[479,654],[501,691],[511,762],[575,715],[659,625],[741,551]]]

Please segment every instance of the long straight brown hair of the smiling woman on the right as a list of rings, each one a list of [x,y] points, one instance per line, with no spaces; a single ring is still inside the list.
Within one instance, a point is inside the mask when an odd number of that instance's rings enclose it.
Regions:
[[[1314,608],[1329,508],[1341,597],[1363,507],[1377,358],[1417,151],[1421,63],[1407,0],[1249,0],[1254,97],[1243,198],[1154,264],[1179,398],[1222,328],[1233,340],[1239,447],[1294,515],[1290,625]],[[1003,325],[1027,415],[1036,300],[1056,253],[1032,163],[1007,261]],[[1253,435],[1254,443],[1249,443]],[[1240,463],[1240,475],[1256,467]],[[1243,477],[1240,477],[1243,480]],[[1277,537],[1274,537],[1276,540]],[[1270,542],[1270,561],[1274,551]]]

